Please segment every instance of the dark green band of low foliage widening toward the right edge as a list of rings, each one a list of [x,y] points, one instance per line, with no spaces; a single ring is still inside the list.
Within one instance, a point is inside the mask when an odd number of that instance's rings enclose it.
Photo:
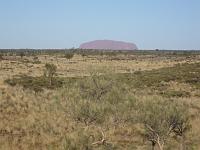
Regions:
[[[165,83],[170,81],[200,88],[200,63],[185,63],[157,70],[137,71],[134,74],[118,74],[118,79],[133,88],[163,89]]]

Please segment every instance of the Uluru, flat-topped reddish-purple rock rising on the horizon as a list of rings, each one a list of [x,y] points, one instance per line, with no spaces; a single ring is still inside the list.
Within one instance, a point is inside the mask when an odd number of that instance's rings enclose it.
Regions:
[[[83,43],[80,49],[98,49],[98,50],[137,50],[134,43],[114,41],[114,40],[96,40]]]

